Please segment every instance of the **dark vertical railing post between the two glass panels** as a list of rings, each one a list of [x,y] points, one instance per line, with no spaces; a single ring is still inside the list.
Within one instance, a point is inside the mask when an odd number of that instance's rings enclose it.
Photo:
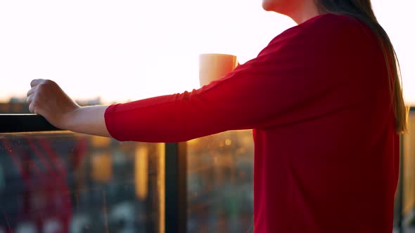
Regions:
[[[186,232],[186,142],[167,143],[165,148],[165,232]]]

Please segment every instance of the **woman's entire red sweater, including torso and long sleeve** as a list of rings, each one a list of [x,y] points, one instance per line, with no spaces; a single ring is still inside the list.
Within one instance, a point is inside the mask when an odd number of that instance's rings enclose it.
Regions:
[[[392,232],[399,138],[381,47],[320,15],[198,90],[111,105],[117,140],[179,142],[253,129],[255,232]]]

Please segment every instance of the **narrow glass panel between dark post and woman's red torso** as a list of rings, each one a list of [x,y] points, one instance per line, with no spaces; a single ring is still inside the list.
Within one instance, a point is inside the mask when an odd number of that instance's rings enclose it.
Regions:
[[[253,232],[253,135],[187,142],[188,232]]]

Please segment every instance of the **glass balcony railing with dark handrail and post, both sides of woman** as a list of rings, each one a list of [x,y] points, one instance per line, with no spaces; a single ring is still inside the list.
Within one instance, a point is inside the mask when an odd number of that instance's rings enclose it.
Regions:
[[[0,232],[253,232],[253,140],[117,142],[0,114]],[[395,228],[415,209],[415,109],[402,136]]]

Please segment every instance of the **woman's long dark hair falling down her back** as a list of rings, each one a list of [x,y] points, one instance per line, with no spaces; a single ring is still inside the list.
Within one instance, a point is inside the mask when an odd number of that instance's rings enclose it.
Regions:
[[[373,30],[378,38],[385,57],[386,67],[388,67],[391,100],[395,114],[395,130],[397,133],[406,131],[407,127],[407,107],[402,96],[400,79],[400,65],[397,60],[395,49],[390,42],[388,34],[379,24],[371,6],[370,0],[315,0],[317,6],[326,13],[338,15],[349,15],[364,22]]]

